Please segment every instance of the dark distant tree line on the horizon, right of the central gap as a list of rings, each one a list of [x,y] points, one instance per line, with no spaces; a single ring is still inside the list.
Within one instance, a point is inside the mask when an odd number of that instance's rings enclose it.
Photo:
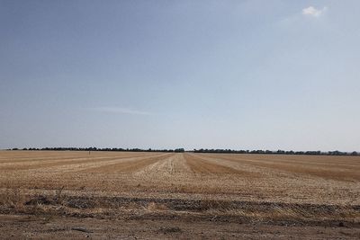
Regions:
[[[232,149],[193,149],[193,153],[211,154],[266,154],[266,155],[314,155],[314,156],[360,156],[360,152],[340,152],[340,151],[270,151],[270,150],[232,150]]]

